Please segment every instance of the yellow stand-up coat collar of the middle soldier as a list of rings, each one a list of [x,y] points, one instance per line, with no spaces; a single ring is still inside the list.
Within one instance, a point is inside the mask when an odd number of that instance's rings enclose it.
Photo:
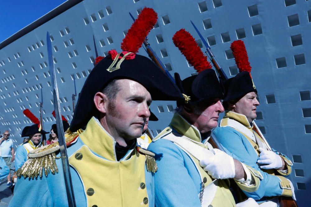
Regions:
[[[193,141],[202,142],[199,130],[178,113],[174,114],[169,126],[174,128],[179,134],[182,134]]]

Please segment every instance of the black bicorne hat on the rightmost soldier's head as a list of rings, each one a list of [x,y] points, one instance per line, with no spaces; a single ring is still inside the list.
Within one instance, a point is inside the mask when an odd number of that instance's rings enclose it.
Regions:
[[[243,71],[225,81],[225,98],[224,101],[240,99],[249,92],[256,92],[257,89],[250,77],[249,72]]]

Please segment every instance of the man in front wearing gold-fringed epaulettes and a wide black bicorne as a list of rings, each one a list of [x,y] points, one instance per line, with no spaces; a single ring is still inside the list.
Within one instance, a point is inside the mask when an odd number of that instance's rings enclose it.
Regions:
[[[138,19],[145,12],[156,16],[150,10],[143,9]],[[156,20],[153,25],[155,23]],[[127,37],[137,35],[131,29]],[[126,46],[131,45],[126,44],[127,37],[122,43],[123,52],[109,51],[89,74],[81,89],[70,131],[67,130],[67,154],[78,206],[155,205],[154,154],[136,148],[136,138],[142,135],[152,100],[177,100],[181,94],[149,58],[136,54],[142,42],[133,49]],[[58,171],[63,171],[61,159],[55,160],[59,156],[58,144],[45,146],[29,157],[34,155],[40,158],[29,159],[30,166],[38,159],[46,159],[49,168],[32,173],[23,165],[17,172],[22,177],[16,184],[10,206],[20,206],[22,202],[31,206],[67,206],[63,173],[56,173],[56,166]],[[35,197],[24,196],[23,192],[29,189],[34,189]]]

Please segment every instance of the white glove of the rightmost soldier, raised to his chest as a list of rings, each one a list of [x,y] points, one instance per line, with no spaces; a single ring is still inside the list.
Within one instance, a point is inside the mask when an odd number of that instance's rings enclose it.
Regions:
[[[260,168],[262,169],[279,169],[282,167],[282,158],[277,155],[273,151],[264,150],[263,148],[259,147],[259,157],[257,159],[257,163],[259,164],[267,164],[262,165]]]

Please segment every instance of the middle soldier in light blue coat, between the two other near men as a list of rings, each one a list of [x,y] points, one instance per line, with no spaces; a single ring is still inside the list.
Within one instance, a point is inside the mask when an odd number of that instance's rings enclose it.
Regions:
[[[185,100],[177,101],[169,127],[148,147],[157,155],[159,167],[154,175],[156,206],[236,206],[227,178],[252,192],[258,189],[261,175],[208,142],[224,111],[222,86],[188,32],[179,30],[173,41],[199,74],[181,80],[175,73]],[[248,199],[237,206],[256,205]]]

